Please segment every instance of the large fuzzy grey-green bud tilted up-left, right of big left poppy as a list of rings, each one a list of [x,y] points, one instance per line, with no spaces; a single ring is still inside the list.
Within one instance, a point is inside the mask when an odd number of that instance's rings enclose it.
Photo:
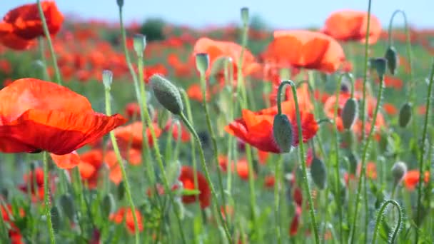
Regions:
[[[183,103],[178,88],[158,74],[151,76],[151,86],[158,102],[168,111],[181,115]]]

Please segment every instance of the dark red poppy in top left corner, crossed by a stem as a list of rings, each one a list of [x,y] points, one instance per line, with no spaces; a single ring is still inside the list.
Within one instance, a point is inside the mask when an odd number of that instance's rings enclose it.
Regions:
[[[64,22],[64,16],[57,9],[54,1],[42,1],[41,6],[49,33],[55,35],[59,32]],[[12,9],[4,16],[2,24],[10,26],[12,33],[24,40],[32,40],[38,36],[44,36],[44,29],[42,28],[37,4],[26,4]]]

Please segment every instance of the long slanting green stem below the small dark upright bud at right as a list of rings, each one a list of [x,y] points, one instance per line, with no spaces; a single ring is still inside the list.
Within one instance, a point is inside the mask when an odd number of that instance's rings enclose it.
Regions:
[[[377,96],[377,105],[375,106],[375,111],[373,114],[373,118],[372,121],[370,122],[370,131],[368,134],[368,138],[366,138],[365,141],[365,147],[363,148],[363,155],[362,155],[362,163],[361,163],[361,167],[360,167],[360,177],[359,177],[359,181],[358,181],[358,188],[357,188],[357,195],[355,198],[355,208],[354,208],[354,215],[353,215],[353,227],[350,229],[351,230],[351,235],[350,235],[350,243],[353,243],[354,241],[354,235],[355,235],[355,228],[357,225],[357,215],[358,215],[358,205],[360,203],[360,198],[361,198],[361,192],[362,192],[362,182],[365,181],[365,171],[366,171],[366,157],[368,156],[368,149],[369,149],[369,143],[370,140],[372,139],[373,136],[373,132],[375,131],[375,122],[377,121],[377,114],[378,111],[380,110],[380,103],[381,103],[381,98],[383,98],[383,88],[384,88],[384,77],[380,77],[380,91],[378,91],[378,96]],[[365,128],[362,128],[362,133],[365,133]],[[368,214],[368,213],[365,213]]]

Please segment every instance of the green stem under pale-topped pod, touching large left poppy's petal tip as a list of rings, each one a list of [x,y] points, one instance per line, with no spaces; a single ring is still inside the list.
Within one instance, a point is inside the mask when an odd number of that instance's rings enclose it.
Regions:
[[[111,115],[111,104],[110,104],[110,89],[106,88],[106,114],[107,116]],[[138,230],[138,222],[137,222],[137,216],[136,216],[136,207],[133,203],[133,198],[131,196],[131,188],[130,183],[128,182],[128,177],[126,176],[125,166],[123,166],[123,159],[121,157],[121,153],[118,148],[118,142],[116,141],[116,137],[114,136],[114,132],[110,131],[110,138],[111,138],[111,144],[113,145],[114,153],[116,154],[116,159],[118,161],[118,165],[121,168],[122,178],[123,182],[125,183],[125,191],[126,191],[126,198],[128,200],[128,203],[131,208],[131,213],[133,214],[133,220],[134,220],[134,235],[136,237],[136,244],[140,243],[140,236],[139,236],[139,230]]]

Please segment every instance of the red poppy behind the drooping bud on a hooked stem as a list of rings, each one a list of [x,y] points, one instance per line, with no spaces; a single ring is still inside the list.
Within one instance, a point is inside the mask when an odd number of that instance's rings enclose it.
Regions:
[[[285,113],[285,111],[283,111],[283,113]],[[226,126],[225,131],[261,151],[281,153],[273,136],[273,119],[275,114],[274,108],[266,108],[258,112],[243,109],[243,116]],[[298,146],[296,113],[285,114],[288,116],[293,126],[292,145]],[[301,111],[301,128],[303,131],[303,143],[306,143],[316,135],[318,123],[316,123],[312,113]]]

